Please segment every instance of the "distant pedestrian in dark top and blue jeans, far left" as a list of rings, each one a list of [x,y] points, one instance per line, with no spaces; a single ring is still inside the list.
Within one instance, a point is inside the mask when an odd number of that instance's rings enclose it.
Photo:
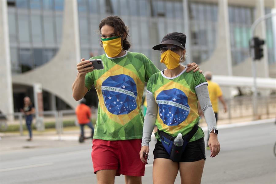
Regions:
[[[23,109],[20,109],[21,112],[25,114],[26,118],[26,126],[29,131],[29,139],[28,141],[32,140],[32,121],[33,121],[33,114],[36,112],[35,108],[33,107],[33,104],[31,102],[31,99],[29,97],[24,98],[24,107]]]

